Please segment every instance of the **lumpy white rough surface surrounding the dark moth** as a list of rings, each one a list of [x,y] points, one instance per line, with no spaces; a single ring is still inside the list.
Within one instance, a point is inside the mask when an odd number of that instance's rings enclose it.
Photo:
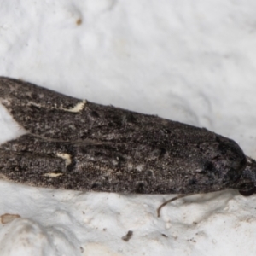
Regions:
[[[0,1],[0,75],[207,127],[256,158],[252,0]],[[0,142],[20,127],[0,108]],[[0,182],[0,255],[253,255],[256,196],[119,195]],[[129,241],[122,237],[129,230]]]

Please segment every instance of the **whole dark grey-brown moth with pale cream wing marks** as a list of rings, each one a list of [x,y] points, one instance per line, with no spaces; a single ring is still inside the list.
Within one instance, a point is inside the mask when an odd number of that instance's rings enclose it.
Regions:
[[[4,77],[0,103],[26,130],[0,145],[5,180],[54,189],[180,194],[171,201],[222,189],[256,191],[255,160],[207,129]]]

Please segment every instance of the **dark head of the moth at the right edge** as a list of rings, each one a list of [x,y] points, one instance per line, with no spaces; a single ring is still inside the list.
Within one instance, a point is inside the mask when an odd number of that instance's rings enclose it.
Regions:
[[[256,161],[250,157],[247,157],[247,166],[236,183],[236,189],[245,196],[256,193]]]

